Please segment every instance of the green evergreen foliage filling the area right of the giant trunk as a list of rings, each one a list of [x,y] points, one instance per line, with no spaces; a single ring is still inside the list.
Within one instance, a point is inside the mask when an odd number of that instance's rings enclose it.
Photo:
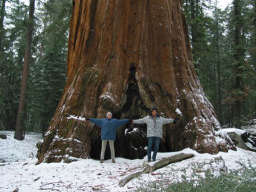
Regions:
[[[241,15],[235,15],[234,4],[220,10],[218,1],[209,1],[207,6],[205,2],[183,1],[195,68],[205,95],[223,125],[235,122],[237,100],[242,104],[241,115],[255,118],[255,1],[240,1]],[[235,40],[237,24],[239,44]]]

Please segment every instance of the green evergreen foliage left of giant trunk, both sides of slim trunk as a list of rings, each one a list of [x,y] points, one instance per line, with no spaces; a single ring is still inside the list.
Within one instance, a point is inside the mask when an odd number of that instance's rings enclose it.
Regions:
[[[28,6],[9,1],[4,22],[5,38],[0,52],[0,129],[15,129]],[[67,41],[72,2],[38,1],[26,95],[26,131],[47,128],[60,100],[67,70]]]

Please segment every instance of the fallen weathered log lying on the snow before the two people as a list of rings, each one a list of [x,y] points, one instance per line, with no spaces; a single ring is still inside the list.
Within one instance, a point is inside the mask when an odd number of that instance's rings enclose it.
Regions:
[[[164,157],[163,159],[161,159],[160,161],[157,161],[155,164],[152,164],[152,165],[145,164],[145,166],[143,167],[143,170],[128,175],[124,179],[120,180],[119,185],[125,186],[125,184],[127,184],[127,182],[134,179],[135,177],[140,176],[141,174],[154,172],[154,171],[158,170],[159,168],[163,168],[164,166],[167,166],[168,164],[175,163],[177,161],[182,161],[184,159],[189,159],[194,156],[195,156],[194,154],[181,153],[181,154],[177,154],[175,156]]]

